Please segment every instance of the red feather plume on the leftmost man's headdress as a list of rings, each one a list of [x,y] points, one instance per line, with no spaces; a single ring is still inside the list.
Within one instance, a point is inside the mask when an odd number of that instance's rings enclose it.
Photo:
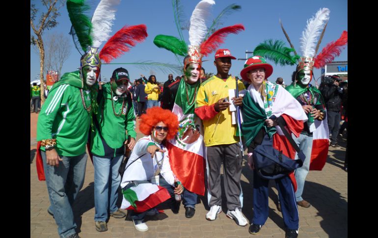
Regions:
[[[144,41],[147,36],[147,27],[144,24],[124,26],[104,45],[100,52],[100,58],[106,63],[109,63],[121,54],[128,52],[130,48],[134,47],[137,43]]]

